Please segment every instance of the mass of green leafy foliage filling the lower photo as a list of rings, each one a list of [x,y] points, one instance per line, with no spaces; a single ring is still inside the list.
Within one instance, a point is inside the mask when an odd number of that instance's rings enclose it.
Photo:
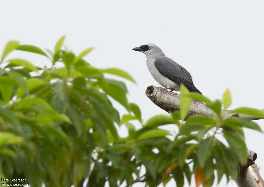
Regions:
[[[228,180],[236,178],[238,163],[244,164],[247,156],[243,127],[262,131],[252,121],[223,117],[221,105],[227,109],[232,101],[229,90],[221,103],[189,93],[182,85],[181,111],[144,122],[140,108],[128,103],[126,85],[106,78],[105,73],[134,79],[120,69],[97,69],[83,59],[92,47],[76,56],[63,49],[64,40],[65,36],[56,42],[54,52],[17,41],[8,42],[4,48],[0,74],[1,178],[27,179],[31,186],[82,186],[88,178],[87,186],[104,186],[108,181],[111,187],[124,181],[129,186],[140,181],[150,187],[165,186],[171,179],[183,186],[184,178],[191,184],[192,174],[196,184],[204,186],[211,186],[215,177],[218,183],[223,175]],[[50,67],[37,67],[24,59],[5,60],[12,50],[42,55]],[[121,119],[109,97],[126,108],[128,113]],[[188,117],[192,98],[205,102],[217,117]],[[245,107],[232,113],[264,116],[262,111]],[[137,129],[135,122],[142,128]],[[159,128],[166,124],[176,124],[178,133]],[[121,125],[128,129],[128,137],[119,136]],[[233,131],[221,131],[221,127]],[[230,148],[215,138],[216,133]],[[146,173],[140,176],[143,166]]]

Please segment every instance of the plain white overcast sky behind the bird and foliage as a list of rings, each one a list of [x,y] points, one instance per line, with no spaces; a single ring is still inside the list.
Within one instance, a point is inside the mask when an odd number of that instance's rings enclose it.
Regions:
[[[144,120],[166,114],[146,96],[159,86],[145,65],[145,55],[131,49],[158,45],[165,55],[185,67],[196,87],[211,99],[229,88],[233,104],[264,108],[263,1],[1,1],[0,51],[8,40],[53,49],[62,35],[77,54],[96,46],[87,57],[98,68],[117,67],[138,83],[126,81],[129,101],[139,104]],[[0,52],[0,53],[1,53]],[[49,65],[41,55],[13,52],[35,65]],[[9,58],[7,57],[7,59]],[[125,109],[116,105],[121,114]],[[263,128],[263,120],[257,121]],[[174,126],[167,127],[175,131]],[[122,134],[126,133],[121,128]],[[249,149],[264,171],[263,134],[245,129]],[[223,179],[219,186],[225,186]],[[133,187],[141,187],[135,184]],[[162,185],[161,185],[162,186]],[[171,181],[167,186],[175,186]],[[188,185],[185,185],[188,186]],[[195,186],[194,180],[192,186]],[[228,186],[235,186],[230,182]]]

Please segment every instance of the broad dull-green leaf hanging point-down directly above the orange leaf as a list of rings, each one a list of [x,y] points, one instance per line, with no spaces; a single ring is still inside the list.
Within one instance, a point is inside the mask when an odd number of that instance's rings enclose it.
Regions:
[[[201,140],[201,142],[198,145],[196,154],[199,164],[202,168],[204,168],[206,161],[213,153],[213,143],[214,143],[214,136],[210,136],[204,140]]]

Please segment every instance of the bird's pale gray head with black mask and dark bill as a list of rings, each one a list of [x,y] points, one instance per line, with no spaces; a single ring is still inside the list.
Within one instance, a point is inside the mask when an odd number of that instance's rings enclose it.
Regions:
[[[147,57],[164,55],[162,50],[155,44],[145,44],[140,47],[135,47],[132,50],[143,52]]]

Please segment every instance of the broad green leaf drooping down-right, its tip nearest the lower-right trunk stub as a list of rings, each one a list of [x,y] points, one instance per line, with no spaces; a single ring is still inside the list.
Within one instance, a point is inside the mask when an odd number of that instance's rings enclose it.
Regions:
[[[244,140],[233,132],[224,130],[224,137],[227,140],[230,148],[237,155],[241,164],[247,163],[247,147]]]

